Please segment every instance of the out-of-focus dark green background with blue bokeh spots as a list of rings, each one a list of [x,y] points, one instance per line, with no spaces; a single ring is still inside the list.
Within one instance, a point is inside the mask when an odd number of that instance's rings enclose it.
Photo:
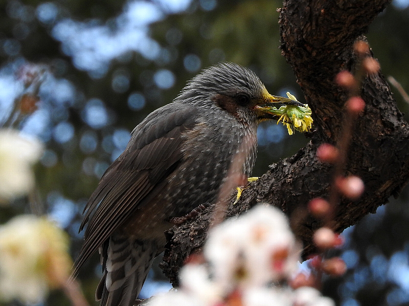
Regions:
[[[148,113],[170,103],[202,68],[232,61],[253,69],[274,95],[303,95],[281,56],[277,0],[59,0],[0,2],[0,122],[40,138],[35,210],[72,237],[72,256],[85,202]],[[370,25],[367,37],[384,75],[409,89],[409,1],[396,0]],[[328,63],[331,65],[331,63]],[[37,81],[25,86],[36,73]],[[27,84],[27,82],[26,82]],[[395,91],[399,109],[409,105]],[[37,110],[13,118],[22,94]],[[406,116],[407,119],[407,116]],[[307,141],[275,122],[258,130],[253,174],[293,155]],[[409,190],[344,232],[348,266],[324,293],[343,306],[409,304]],[[27,199],[0,207],[0,221],[30,212]],[[98,255],[79,275],[92,304]],[[157,264],[157,261],[156,261]],[[141,297],[170,285],[155,267]],[[17,301],[12,302],[18,305]],[[53,291],[46,305],[68,305]]]

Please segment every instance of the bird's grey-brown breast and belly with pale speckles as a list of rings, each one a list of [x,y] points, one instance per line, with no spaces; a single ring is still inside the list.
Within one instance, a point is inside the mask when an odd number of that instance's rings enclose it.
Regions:
[[[165,202],[169,203],[169,217],[213,203],[239,150],[248,146],[239,169],[245,176],[251,174],[257,153],[256,129],[232,121],[200,121],[182,137],[184,158],[168,177]]]

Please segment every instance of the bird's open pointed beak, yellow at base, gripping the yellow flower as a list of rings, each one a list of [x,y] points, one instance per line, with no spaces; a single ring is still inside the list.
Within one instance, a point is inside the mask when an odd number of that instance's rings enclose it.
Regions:
[[[268,119],[278,120],[280,116],[268,113],[266,111],[266,108],[276,107],[277,109],[279,109],[280,106],[282,105],[293,105],[293,106],[304,107],[304,104],[297,101],[296,99],[290,99],[286,97],[271,95],[266,90],[261,96],[261,98],[258,99],[256,104],[253,106],[253,110],[256,111],[257,117],[260,120],[268,120]]]

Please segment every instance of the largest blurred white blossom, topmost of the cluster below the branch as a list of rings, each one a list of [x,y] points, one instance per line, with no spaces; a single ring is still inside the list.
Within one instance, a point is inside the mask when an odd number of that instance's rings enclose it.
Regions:
[[[225,290],[235,282],[263,286],[290,277],[298,269],[300,251],[287,217],[269,205],[213,228],[203,248],[215,282]]]

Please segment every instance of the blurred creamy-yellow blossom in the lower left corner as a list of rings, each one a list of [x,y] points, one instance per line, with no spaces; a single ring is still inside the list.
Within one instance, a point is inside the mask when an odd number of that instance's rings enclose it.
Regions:
[[[36,303],[60,287],[72,266],[68,244],[65,232],[33,215],[0,226],[0,298]]]

